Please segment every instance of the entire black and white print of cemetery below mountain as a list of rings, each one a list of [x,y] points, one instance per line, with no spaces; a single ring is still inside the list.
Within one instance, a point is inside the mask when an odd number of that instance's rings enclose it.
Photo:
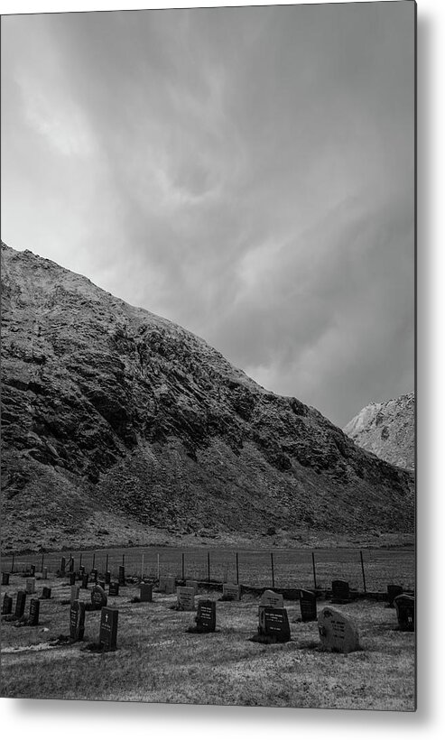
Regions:
[[[1,696],[416,710],[416,31],[1,17]]]

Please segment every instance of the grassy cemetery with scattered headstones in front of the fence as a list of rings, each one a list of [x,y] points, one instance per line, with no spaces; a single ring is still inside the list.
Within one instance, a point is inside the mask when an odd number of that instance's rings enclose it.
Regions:
[[[72,585],[69,570],[34,569],[31,587],[10,573],[4,696],[88,698],[94,684],[97,699],[414,708],[415,600],[400,587],[376,598],[339,578],[310,590],[131,576],[85,569]]]

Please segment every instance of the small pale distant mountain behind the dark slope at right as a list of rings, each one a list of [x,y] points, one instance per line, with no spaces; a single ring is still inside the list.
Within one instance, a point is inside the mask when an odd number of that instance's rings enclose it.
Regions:
[[[358,447],[399,467],[414,469],[414,393],[365,406],[343,431]]]

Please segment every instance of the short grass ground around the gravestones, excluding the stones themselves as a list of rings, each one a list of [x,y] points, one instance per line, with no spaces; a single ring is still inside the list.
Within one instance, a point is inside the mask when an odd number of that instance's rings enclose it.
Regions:
[[[24,579],[2,587],[14,596]],[[41,602],[37,627],[2,621],[2,696],[79,698],[166,703],[229,704],[294,708],[356,708],[412,711],[414,634],[396,629],[394,609],[357,601],[338,606],[357,623],[362,650],[348,655],[320,650],[317,623],[301,624],[297,602],[285,602],[292,641],[252,643],[258,598],[219,602],[217,632],[189,634],[194,614],[172,611],[176,597],[153,594],[153,603],[131,603],[137,587],[121,587],[108,606],[119,609],[117,651],[97,654],[99,612],[88,612],[83,643],[51,647],[70,633],[70,587],[61,578],[37,581],[52,588]],[[201,593],[204,597],[204,592]],[[206,595],[207,596],[207,595]],[[220,592],[209,592],[210,598]],[[89,600],[81,589],[80,597]],[[25,614],[29,611],[29,599]],[[15,604],[15,598],[14,598]],[[319,610],[324,602],[319,602]]]

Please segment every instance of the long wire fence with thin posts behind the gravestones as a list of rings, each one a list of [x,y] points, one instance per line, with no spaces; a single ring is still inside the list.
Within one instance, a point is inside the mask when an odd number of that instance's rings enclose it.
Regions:
[[[336,578],[359,591],[385,591],[388,584],[413,589],[414,550],[185,550],[181,548],[121,548],[13,555],[2,558],[5,572],[36,573],[60,569],[108,571],[117,577],[155,579],[164,575],[246,587],[330,588]]]

